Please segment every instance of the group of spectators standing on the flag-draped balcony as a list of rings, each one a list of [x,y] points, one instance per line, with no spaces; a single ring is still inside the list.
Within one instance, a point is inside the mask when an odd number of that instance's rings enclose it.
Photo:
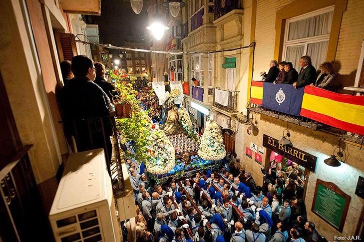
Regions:
[[[319,74],[312,65],[310,56],[302,56],[299,63],[300,72],[294,68],[292,62],[282,61],[278,63],[277,60],[271,60],[268,73],[261,72],[261,76],[265,82],[291,84],[296,88],[311,85],[330,89],[333,86],[338,86],[338,73],[335,72],[331,62],[322,63],[319,66]]]

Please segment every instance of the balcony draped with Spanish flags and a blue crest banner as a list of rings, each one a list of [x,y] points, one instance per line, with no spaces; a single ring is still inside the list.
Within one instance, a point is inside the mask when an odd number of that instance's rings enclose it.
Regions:
[[[318,87],[252,81],[253,112],[314,130],[325,129],[357,142],[364,135],[364,96],[335,93]]]

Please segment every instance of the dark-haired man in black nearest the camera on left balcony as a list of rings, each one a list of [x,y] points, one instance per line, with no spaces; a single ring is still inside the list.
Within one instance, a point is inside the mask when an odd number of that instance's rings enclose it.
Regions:
[[[71,68],[75,77],[63,86],[59,96],[65,132],[75,137],[78,151],[103,148],[109,163],[112,151],[110,120],[103,119],[102,130],[100,120],[92,118],[108,116],[110,100],[93,82],[95,67],[91,59],[85,55],[74,56]]]

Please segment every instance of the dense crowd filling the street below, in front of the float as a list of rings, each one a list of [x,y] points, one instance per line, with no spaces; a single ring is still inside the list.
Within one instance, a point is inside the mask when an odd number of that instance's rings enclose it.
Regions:
[[[129,146],[128,153],[133,152]],[[196,171],[161,185],[126,159],[137,206],[137,241],[320,242],[302,201],[305,177],[297,163],[274,164],[257,186],[228,154],[218,170]]]

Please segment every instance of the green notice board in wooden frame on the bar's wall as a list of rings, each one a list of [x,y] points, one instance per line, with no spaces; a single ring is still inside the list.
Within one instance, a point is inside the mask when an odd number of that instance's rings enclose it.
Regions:
[[[311,211],[343,232],[351,197],[331,182],[317,179]]]

